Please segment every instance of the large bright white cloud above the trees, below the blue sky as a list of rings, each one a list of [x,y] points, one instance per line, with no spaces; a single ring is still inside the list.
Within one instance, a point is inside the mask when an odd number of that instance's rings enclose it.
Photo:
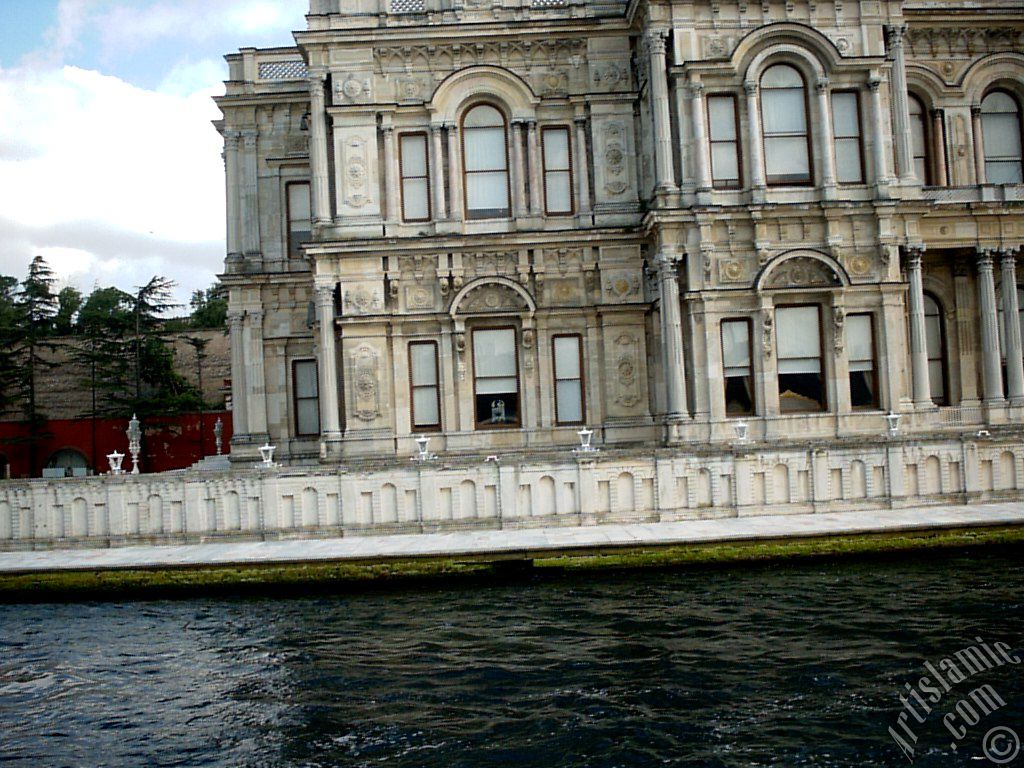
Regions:
[[[209,285],[222,266],[222,144],[210,89],[184,92],[193,80],[183,69],[155,92],[74,67],[0,70],[13,116],[0,121],[0,272],[22,276],[42,253],[85,289],[153,274],[184,297]]]

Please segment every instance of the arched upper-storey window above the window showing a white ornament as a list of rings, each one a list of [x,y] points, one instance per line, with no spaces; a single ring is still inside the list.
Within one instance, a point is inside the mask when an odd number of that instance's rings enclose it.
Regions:
[[[505,116],[489,104],[466,113],[462,122],[466,216],[490,219],[509,215],[508,128]]]

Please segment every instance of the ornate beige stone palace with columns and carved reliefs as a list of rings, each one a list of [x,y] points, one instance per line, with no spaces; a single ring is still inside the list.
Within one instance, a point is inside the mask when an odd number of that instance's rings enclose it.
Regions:
[[[766,450],[868,445],[891,413],[954,453],[1017,439],[1016,2],[311,0],[307,22],[229,55],[217,99],[232,457],[421,434],[540,456],[583,425],[685,456],[740,422]]]

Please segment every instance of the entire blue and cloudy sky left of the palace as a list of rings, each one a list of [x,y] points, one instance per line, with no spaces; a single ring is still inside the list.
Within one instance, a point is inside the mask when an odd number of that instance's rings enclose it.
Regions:
[[[223,267],[225,53],[291,44],[308,0],[0,0],[0,274],[177,296]]]

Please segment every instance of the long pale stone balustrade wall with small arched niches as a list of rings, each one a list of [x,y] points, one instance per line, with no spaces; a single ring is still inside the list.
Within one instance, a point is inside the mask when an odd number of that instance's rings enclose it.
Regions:
[[[0,549],[580,525],[1020,498],[1024,444],[737,444],[0,482]]]

